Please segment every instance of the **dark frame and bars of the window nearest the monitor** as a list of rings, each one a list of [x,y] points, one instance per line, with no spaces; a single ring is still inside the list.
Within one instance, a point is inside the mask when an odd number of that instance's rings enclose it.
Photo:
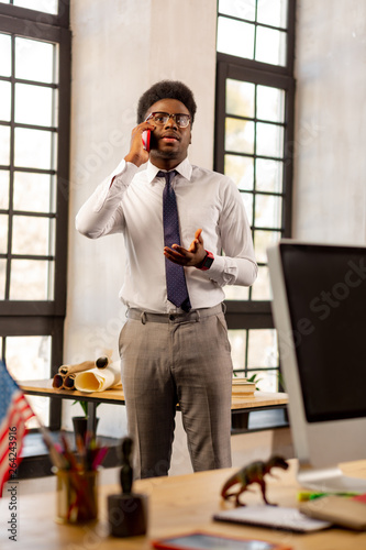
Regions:
[[[218,20],[219,20],[218,1]],[[226,14],[222,14],[228,16]],[[231,18],[235,19],[235,18]],[[257,23],[254,23],[257,25]],[[268,26],[268,25],[264,25]],[[295,26],[296,26],[296,0],[288,1],[287,11],[287,57],[286,65],[270,65],[253,59],[236,57],[217,52],[217,88],[215,88],[215,128],[214,128],[214,169],[224,173],[225,155],[225,88],[226,79],[233,78],[242,81],[249,81],[263,86],[273,86],[286,91],[285,103],[285,163],[284,163],[284,201],[281,212],[281,235],[291,237],[292,223],[292,173],[293,173],[293,122],[295,122]],[[284,30],[284,29],[281,29]],[[255,157],[255,155],[254,155]],[[254,223],[254,220],[253,220]],[[253,230],[253,227],[252,227]],[[225,300],[226,322],[229,330],[237,329],[274,329],[270,300]],[[248,346],[246,346],[246,353]],[[246,360],[245,360],[246,365]],[[279,370],[277,367],[251,369]],[[249,370],[249,371],[251,371]],[[237,369],[249,375],[245,369]],[[279,389],[282,389],[279,383]]]

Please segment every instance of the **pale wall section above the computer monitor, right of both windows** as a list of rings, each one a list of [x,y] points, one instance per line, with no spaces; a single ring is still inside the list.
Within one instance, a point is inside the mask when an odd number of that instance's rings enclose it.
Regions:
[[[366,241],[366,2],[298,0],[293,237]]]

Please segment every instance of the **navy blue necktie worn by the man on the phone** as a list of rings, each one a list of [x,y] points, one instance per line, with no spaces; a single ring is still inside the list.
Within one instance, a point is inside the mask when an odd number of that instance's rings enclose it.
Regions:
[[[171,248],[173,244],[180,245],[179,220],[176,194],[171,187],[171,180],[176,170],[157,173],[157,177],[165,177],[166,185],[163,191],[163,226],[164,245]],[[166,287],[168,300],[184,311],[189,311],[191,305],[186,283],[186,275],[182,265],[165,258]]]

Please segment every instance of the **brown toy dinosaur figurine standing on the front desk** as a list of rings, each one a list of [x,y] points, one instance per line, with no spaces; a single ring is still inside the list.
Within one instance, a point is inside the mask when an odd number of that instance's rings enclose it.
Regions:
[[[235,497],[235,505],[236,506],[245,506],[244,503],[241,503],[239,497],[244,491],[247,490],[248,485],[252,483],[257,483],[262,490],[262,495],[263,499],[266,504],[270,504],[267,501],[266,497],[266,482],[264,476],[266,474],[273,475],[270,472],[273,468],[281,468],[282,470],[288,469],[288,463],[282,457],[271,457],[269,460],[266,462],[263,462],[262,460],[258,460],[256,462],[251,462],[247,466],[242,468],[239,470],[234,475],[232,475],[224,486],[221,490],[221,496],[222,498],[231,498],[232,496]],[[275,476],[274,476],[275,477]],[[228,491],[233,486],[233,485],[240,485],[239,491],[235,493],[228,493]],[[273,504],[271,506],[276,506]]]

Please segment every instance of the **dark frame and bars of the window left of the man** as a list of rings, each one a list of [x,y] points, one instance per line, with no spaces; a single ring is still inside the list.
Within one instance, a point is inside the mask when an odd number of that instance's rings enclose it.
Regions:
[[[56,239],[54,253],[54,296],[51,300],[11,300],[9,296],[0,300],[0,336],[1,337],[42,337],[52,339],[51,345],[51,372],[52,377],[63,363],[64,346],[64,321],[66,316],[66,283],[67,283],[67,234],[68,234],[68,194],[69,194],[69,139],[70,139],[70,64],[71,64],[71,33],[69,30],[69,0],[58,0],[58,13],[49,14],[27,8],[0,3],[0,32],[49,41],[58,44],[58,119],[57,127],[57,169],[45,170],[46,174],[56,177]],[[14,52],[12,52],[12,57]],[[14,74],[9,78],[2,77],[12,84],[16,81]],[[22,80],[23,81],[23,80]],[[14,86],[12,87],[14,89]],[[14,98],[12,98],[14,99]],[[14,101],[12,100],[12,105]],[[13,194],[14,174],[14,129],[16,124],[12,112],[11,128],[11,152],[10,166],[3,168],[10,170],[9,195]],[[29,127],[29,125],[27,125]],[[23,169],[33,172],[32,168]],[[42,173],[42,170],[34,170]],[[1,210],[2,213],[12,216],[14,213],[12,199],[9,208]],[[36,215],[35,215],[36,216]],[[48,216],[49,218],[53,216]],[[11,235],[8,235],[10,239]],[[7,254],[1,257],[9,260],[11,250],[8,246]],[[7,267],[8,270],[9,267]],[[9,278],[7,277],[7,280]],[[7,283],[9,286],[9,283]],[[4,354],[4,350],[3,354]],[[60,428],[60,402],[51,399],[49,428]]]

